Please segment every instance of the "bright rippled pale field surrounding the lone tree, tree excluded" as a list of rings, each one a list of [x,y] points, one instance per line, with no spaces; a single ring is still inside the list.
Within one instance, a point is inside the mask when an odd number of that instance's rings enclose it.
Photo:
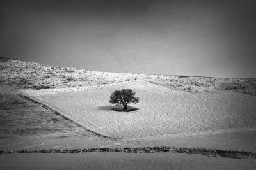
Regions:
[[[117,112],[109,104],[115,90],[132,89],[137,111]],[[256,96],[218,90],[188,92],[135,80],[88,87],[23,90],[91,131],[122,139],[156,139],[256,129]]]

